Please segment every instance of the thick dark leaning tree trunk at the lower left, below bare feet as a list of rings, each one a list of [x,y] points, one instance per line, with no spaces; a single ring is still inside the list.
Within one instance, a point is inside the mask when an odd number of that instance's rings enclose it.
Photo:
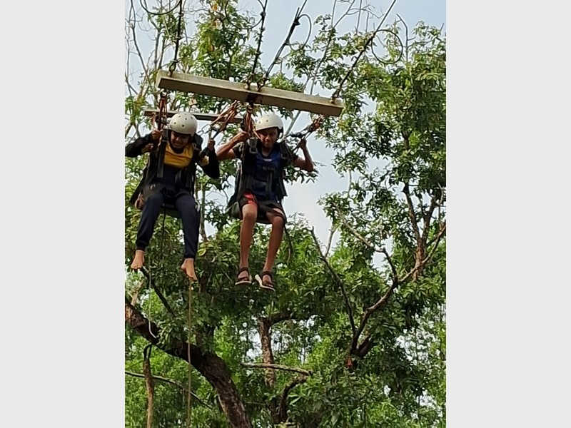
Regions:
[[[159,345],[157,337],[160,335],[160,329],[154,322],[147,320],[127,299],[125,300],[125,321],[148,342],[173,357],[188,361],[188,343],[183,340],[173,340],[169,345]],[[236,390],[236,385],[232,382],[226,362],[218,355],[203,352],[200,347],[192,344],[191,362],[193,367],[216,389],[230,427],[251,428],[252,424],[246,414],[246,407]]]

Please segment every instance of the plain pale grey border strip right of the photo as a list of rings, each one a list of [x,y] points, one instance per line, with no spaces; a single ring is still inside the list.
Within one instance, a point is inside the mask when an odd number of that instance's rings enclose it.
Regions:
[[[554,4],[447,4],[450,427],[570,424],[569,6]]]

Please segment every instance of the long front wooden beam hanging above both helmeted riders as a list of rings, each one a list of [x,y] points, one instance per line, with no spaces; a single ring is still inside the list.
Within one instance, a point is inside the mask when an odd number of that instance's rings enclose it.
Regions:
[[[267,88],[264,86],[258,91],[256,83],[246,88],[246,83],[231,82],[218,78],[193,76],[186,73],[173,73],[168,71],[157,72],[156,84],[158,88],[171,91],[198,93],[228,98],[242,102],[253,102],[262,106],[276,106],[289,110],[310,111],[325,116],[339,116],[343,110],[343,101],[332,101],[323,96],[307,95],[305,93],[283,91],[282,89]]]

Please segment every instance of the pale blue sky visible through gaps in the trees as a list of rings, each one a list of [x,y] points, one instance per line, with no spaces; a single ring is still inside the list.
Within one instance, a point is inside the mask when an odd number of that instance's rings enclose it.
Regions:
[[[264,68],[268,68],[271,61],[273,61],[276,52],[283,43],[285,36],[287,36],[290,29],[290,25],[295,16],[295,12],[301,6],[303,7],[303,13],[311,17],[312,21],[320,14],[330,14],[333,7],[333,1],[315,1],[315,0],[268,0],[267,14],[265,27],[266,30],[263,33],[263,41],[261,45],[262,54],[259,61],[263,64]],[[382,0],[378,2],[378,6],[375,9],[375,14],[381,16],[381,12],[384,14],[390,7],[392,0]],[[355,5],[359,2],[355,1]],[[363,1],[365,3],[365,1]],[[374,3],[374,2],[372,2]],[[189,3],[188,0],[185,3],[185,7],[191,7],[195,2]],[[153,3],[149,2],[148,7],[152,7]],[[126,4],[128,8],[128,4]],[[241,0],[238,2],[238,7],[241,11],[250,11],[252,14],[259,16],[261,11],[261,4],[256,0]],[[340,16],[342,12],[347,9],[346,4],[339,4],[335,11],[335,16]],[[433,0],[433,1],[412,1],[412,0],[397,0],[390,10],[390,13],[385,20],[383,26],[392,24],[395,19],[397,19],[397,14],[405,21],[409,27],[409,31],[418,24],[419,21],[424,21],[425,24],[433,26],[443,26],[445,29],[446,13],[445,13],[445,1],[443,0]],[[360,29],[364,29],[365,25],[368,25],[368,29],[373,29],[378,26],[378,18],[372,18],[368,23],[365,23],[365,19],[361,18]],[[308,35],[310,27],[306,19],[300,20],[300,26],[298,26],[293,32],[291,41],[303,41]],[[357,24],[356,16],[348,17],[344,19],[338,26],[339,31],[351,31],[355,29]],[[188,32],[192,33],[194,26],[192,23],[188,26]],[[315,34],[315,26],[312,29],[312,36]],[[152,41],[143,36],[139,37],[138,40],[141,51],[146,52],[152,49]],[[375,47],[375,54],[382,54],[381,47]],[[286,47],[283,54],[288,53],[288,48]],[[132,62],[133,63],[133,62]],[[276,71],[276,68],[273,69]],[[208,76],[206,76],[208,77]],[[314,91],[315,95],[330,96],[330,92],[325,91]],[[373,108],[373,106],[369,106]],[[365,109],[366,110],[366,109]],[[293,126],[293,131],[300,131],[302,128],[310,123],[309,116],[307,113],[302,113],[298,121],[295,122]],[[206,123],[199,123],[199,129],[202,128]],[[285,121],[285,128],[289,126],[289,121]],[[224,141],[218,138],[216,144],[221,144]],[[315,135],[311,135],[308,138],[308,149],[313,158],[313,161],[324,164],[319,165],[319,177],[314,183],[291,183],[288,184],[288,197],[285,198],[283,206],[285,213],[288,216],[293,215],[293,213],[303,213],[305,218],[308,220],[310,225],[315,227],[315,234],[318,236],[322,243],[327,242],[330,221],[326,218],[323,209],[318,204],[318,199],[325,195],[326,193],[331,193],[334,191],[345,190],[347,188],[348,179],[340,177],[338,173],[333,169],[333,156],[332,150],[325,146],[325,142],[320,139],[316,139]],[[212,228],[208,228],[208,233],[213,232]],[[337,235],[334,235],[333,245],[337,240]],[[375,263],[380,263],[380,259],[377,258]]]

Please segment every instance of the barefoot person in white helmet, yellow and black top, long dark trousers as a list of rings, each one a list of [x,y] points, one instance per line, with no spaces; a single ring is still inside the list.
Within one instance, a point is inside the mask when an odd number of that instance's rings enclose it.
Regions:
[[[214,151],[214,141],[201,151],[203,139],[196,133],[198,121],[191,113],[176,113],[165,131],[154,129],[137,138],[125,148],[125,156],[135,158],[149,153],[131,203],[142,210],[138,225],[136,251],[131,269],[138,270],[145,262],[145,250],[153,235],[161,208],[173,206],[183,223],[184,260],[181,265],[191,280],[197,280],[194,259],[198,247],[200,212],[194,198],[196,165],[211,178],[220,178],[220,165]]]

